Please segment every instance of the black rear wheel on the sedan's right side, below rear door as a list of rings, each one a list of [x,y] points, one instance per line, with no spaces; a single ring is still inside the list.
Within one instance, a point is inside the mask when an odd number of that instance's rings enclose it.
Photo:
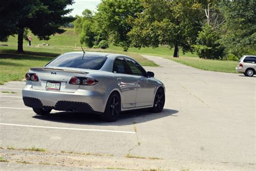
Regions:
[[[107,122],[113,122],[117,120],[117,117],[121,110],[121,99],[117,92],[110,94],[107,100],[105,112],[100,115],[100,119]]]

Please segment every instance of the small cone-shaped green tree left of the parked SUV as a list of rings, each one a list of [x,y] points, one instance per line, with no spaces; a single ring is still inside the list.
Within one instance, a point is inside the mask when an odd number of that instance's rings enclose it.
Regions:
[[[219,43],[220,36],[214,28],[208,24],[199,31],[197,44],[194,45],[198,56],[205,59],[222,59],[225,47]]]

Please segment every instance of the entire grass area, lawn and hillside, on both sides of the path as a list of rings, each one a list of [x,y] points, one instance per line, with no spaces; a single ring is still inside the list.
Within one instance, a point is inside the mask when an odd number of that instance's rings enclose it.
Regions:
[[[55,58],[59,54],[70,51],[81,51],[79,36],[76,35],[73,29],[66,29],[62,35],[56,34],[51,36],[51,39],[38,40],[31,32],[28,35],[32,36],[32,46],[28,47],[28,42],[24,40],[24,54],[18,54],[17,51],[17,36],[10,36],[8,42],[0,42],[0,84],[10,80],[21,80],[25,73],[32,66],[43,66],[49,60]],[[43,46],[42,44],[50,44]],[[1,46],[1,45],[8,46]],[[173,58],[173,50],[167,46],[160,46],[156,49],[151,47],[143,47],[137,49],[131,47],[128,52],[123,52],[122,47],[110,45],[106,50],[84,48],[85,51],[103,51],[110,53],[126,54],[131,56],[143,66],[158,66],[153,61],[143,58],[140,54],[149,54],[152,56],[162,56],[167,59],[177,61],[178,63],[188,66],[196,67],[197,69],[233,72],[235,73],[235,66],[237,61],[221,61],[221,60],[206,60],[200,59],[196,54],[180,52],[179,58]]]

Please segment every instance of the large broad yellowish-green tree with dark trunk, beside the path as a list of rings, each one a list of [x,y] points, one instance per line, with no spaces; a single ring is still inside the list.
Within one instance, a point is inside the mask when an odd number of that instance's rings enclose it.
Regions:
[[[201,29],[201,4],[196,1],[144,1],[145,10],[133,20],[129,32],[134,47],[159,44],[174,47],[173,57],[179,57],[179,47],[183,52],[193,51],[197,33]]]

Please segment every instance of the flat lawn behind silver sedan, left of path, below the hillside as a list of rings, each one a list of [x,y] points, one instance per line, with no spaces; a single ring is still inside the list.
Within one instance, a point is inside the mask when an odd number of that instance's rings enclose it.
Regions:
[[[16,53],[16,46],[0,46],[0,84],[7,81],[17,81],[25,77],[30,67],[43,66],[59,54],[70,51],[81,51],[74,48],[27,47],[24,54]],[[89,51],[89,50],[87,50]],[[93,49],[93,51],[97,51]],[[113,53],[113,51],[104,51]],[[114,52],[116,53],[116,52]],[[143,66],[158,66],[153,61],[132,52],[119,52],[131,56]]]

